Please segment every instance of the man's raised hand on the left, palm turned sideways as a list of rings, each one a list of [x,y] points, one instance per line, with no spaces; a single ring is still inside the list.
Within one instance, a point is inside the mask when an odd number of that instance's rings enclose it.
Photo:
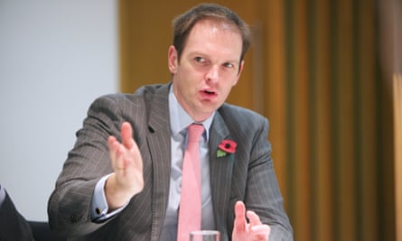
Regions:
[[[114,173],[108,177],[105,194],[109,211],[122,207],[144,188],[143,159],[133,139],[133,128],[127,122],[121,125],[122,142],[108,137],[108,148]]]

